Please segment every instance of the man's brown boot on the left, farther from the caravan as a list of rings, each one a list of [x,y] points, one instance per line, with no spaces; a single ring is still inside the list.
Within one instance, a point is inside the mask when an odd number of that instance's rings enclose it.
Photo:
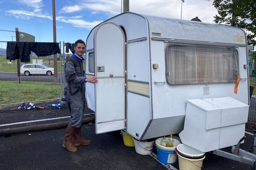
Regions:
[[[62,143],[62,147],[66,148],[70,152],[77,151],[77,148],[72,143],[72,137],[74,136],[75,130],[76,127],[68,125],[65,133],[65,139]]]

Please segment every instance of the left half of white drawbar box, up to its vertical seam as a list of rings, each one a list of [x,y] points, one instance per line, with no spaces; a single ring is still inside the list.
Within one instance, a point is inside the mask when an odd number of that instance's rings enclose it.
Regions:
[[[187,102],[184,130],[179,134],[180,139],[183,144],[202,152],[215,150],[219,146],[220,129],[218,127],[221,125],[221,111],[204,100],[193,101],[198,103],[198,107]],[[215,119],[207,121],[209,119],[207,116]],[[207,143],[211,144],[207,145]]]

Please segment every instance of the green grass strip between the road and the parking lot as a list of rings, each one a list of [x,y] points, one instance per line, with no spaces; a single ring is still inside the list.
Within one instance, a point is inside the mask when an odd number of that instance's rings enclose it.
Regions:
[[[61,96],[61,86],[53,82],[0,81],[0,104],[56,99]]]

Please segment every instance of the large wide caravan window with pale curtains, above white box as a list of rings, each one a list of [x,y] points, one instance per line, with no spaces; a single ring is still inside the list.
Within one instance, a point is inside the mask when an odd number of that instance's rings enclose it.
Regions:
[[[166,45],[167,82],[170,85],[236,82],[236,48],[206,45]]]

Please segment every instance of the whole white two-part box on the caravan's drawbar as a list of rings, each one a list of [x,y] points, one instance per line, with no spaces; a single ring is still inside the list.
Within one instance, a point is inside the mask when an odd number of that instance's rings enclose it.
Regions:
[[[188,99],[180,139],[202,152],[237,144],[244,136],[248,109],[231,97]]]

